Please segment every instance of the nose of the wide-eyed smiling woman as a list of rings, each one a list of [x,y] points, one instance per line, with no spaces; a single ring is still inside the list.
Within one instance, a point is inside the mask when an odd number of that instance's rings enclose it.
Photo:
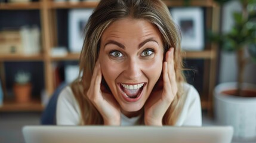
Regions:
[[[124,76],[129,80],[137,80],[142,74],[140,62],[135,58],[130,58],[125,64],[127,64],[127,66],[124,71]]]

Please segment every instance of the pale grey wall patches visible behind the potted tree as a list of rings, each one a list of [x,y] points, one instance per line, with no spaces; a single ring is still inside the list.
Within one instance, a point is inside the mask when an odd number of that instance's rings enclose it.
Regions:
[[[228,2],[223,7],[222,31],[229,32],[233,25],[233,12],[241,11],[238,1]],[[236,54],[232,52],[223,52],[220,54],[220,76],[219,82],[237,81]],[[249,63],[245,67],[244,80],[248,83],[256,84],[256,63]]]

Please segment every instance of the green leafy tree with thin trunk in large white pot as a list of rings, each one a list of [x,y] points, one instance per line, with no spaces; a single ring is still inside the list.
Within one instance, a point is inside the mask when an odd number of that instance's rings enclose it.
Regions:
[[[233,0],[214,0],[220,5]],[[249,50],[252,61],[256,61],[256,0],[239,0],[241,12],[233,13],[235,21],[229,33],[209,32],[209,39],[220,43],[224,51],[236,52],[238,56],[238,93],[243,96],[241,85],[243,73],[249,59],[244,57],[245,49]]]

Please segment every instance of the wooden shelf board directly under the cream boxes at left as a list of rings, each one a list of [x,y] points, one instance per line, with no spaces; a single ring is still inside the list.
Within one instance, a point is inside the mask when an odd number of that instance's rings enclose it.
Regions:
[[[0,61],[42,61],[42,54],[37,55],[21,55],[21,54],[5,54],[0,55]]]

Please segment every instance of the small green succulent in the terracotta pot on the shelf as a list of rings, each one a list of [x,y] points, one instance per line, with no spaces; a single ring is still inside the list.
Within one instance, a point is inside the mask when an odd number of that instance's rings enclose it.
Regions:
[[[18,71],[15,74],[14,81],[19,85],[25,85],[30,82],[31,74],[25,71]]]

